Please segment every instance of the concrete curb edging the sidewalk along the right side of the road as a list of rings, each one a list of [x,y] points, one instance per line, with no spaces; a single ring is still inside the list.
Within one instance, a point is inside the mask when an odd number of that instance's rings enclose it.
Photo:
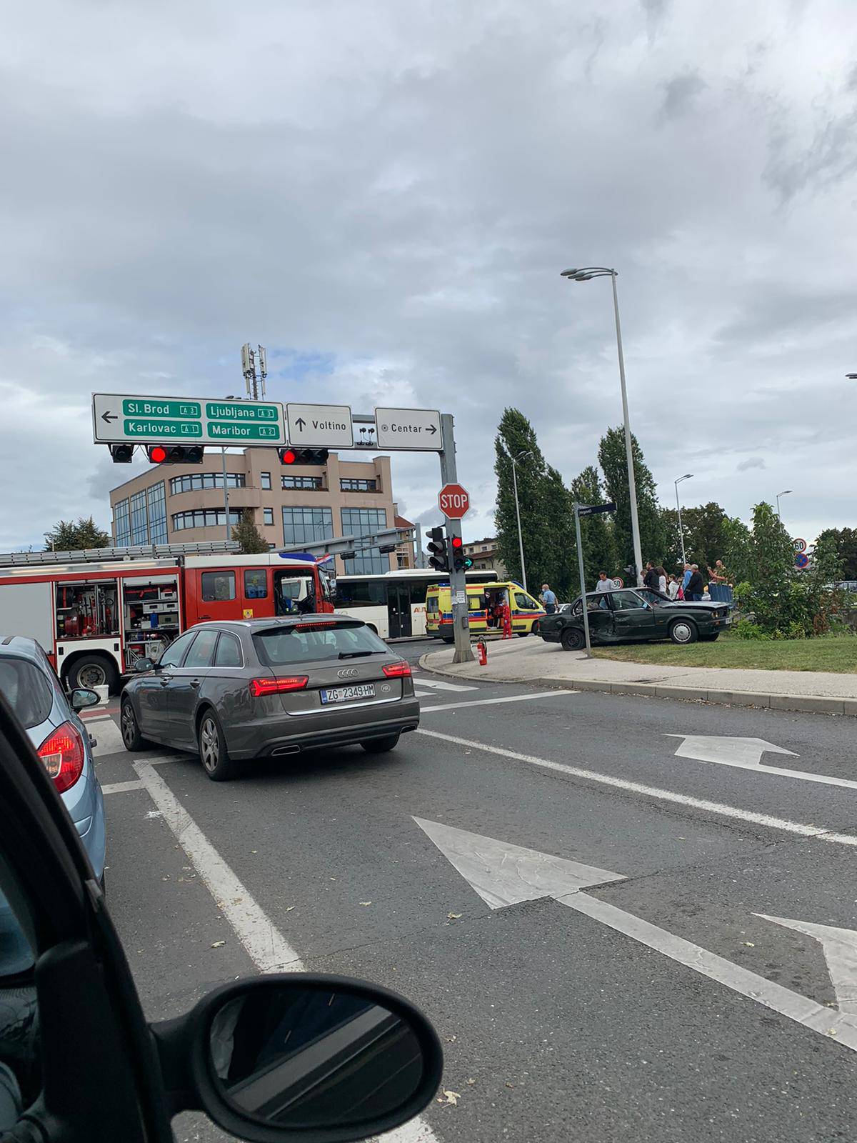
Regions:
[[[430,666],[419,658],[419,665],[433,674],[449,679],[476,680],[479,676],[459,674],[442,668]],[[726,706],[762,706],[775,711],[800,711],[812,714],[850,714],[857,717],[857,698],[831,698],[827,695],[782,695],[761,690],[713,690],[707,687],[667,687],[659,682],[599,682],[595,679],[514,678],[487,679],[488,682],[529,682],[556,690],[600,690],[608,695],[647,695],[650,698],[682,698],[687,702],[722,703]]]

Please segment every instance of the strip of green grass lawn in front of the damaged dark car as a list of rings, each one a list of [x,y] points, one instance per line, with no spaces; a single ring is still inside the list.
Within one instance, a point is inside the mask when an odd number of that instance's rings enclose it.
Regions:
[[[716,642],[676,647],[671,642],[599,647],[596,658],[665,666],[734,666],[762,671],[857,672],[857,636],[823,636],[819,639],[738,639],[721,636]]]

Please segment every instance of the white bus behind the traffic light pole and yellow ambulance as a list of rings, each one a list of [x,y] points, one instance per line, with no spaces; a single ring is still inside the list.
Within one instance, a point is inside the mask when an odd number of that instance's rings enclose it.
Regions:
[[[466,572],[467,583],[495,583],[496,572]],[[425,634],[425,593],[431,584],[449,583],[432,568],[400,569],[383,575],[341,575],[334,607],[368,623],[382,639]],[[333,584],[331,584],[333,586]]]

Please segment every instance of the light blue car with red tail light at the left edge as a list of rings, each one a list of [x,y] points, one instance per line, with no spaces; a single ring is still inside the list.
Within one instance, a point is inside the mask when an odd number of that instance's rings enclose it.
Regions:
[[[99,702],[95,690],[63,690],[34,639],[0,638],[0,694],[11,706],[65,802],[98,881],[104,880],[104,798],[89,734],[78,711]],[[24,972],[30,948],[0,894],[0,975]]]

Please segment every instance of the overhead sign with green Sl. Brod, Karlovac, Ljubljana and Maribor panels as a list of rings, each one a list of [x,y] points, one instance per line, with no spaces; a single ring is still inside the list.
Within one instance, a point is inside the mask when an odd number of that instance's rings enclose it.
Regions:
[[[277,401],[93,393],[96,445],[285,445],[285,425]]]

